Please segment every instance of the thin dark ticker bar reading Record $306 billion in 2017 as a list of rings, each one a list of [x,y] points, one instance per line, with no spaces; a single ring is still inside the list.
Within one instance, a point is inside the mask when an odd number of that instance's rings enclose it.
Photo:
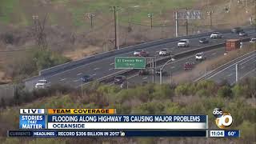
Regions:
[[[201,137],[207,130],[9,130],[9,137]]]

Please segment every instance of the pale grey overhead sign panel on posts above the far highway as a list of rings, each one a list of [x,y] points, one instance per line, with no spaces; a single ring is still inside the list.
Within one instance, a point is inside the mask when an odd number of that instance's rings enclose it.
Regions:
[[[177,17],[177,18],[176,18]],[[176,19],[202,19],[201,10],[180,10],[177,11]]]

